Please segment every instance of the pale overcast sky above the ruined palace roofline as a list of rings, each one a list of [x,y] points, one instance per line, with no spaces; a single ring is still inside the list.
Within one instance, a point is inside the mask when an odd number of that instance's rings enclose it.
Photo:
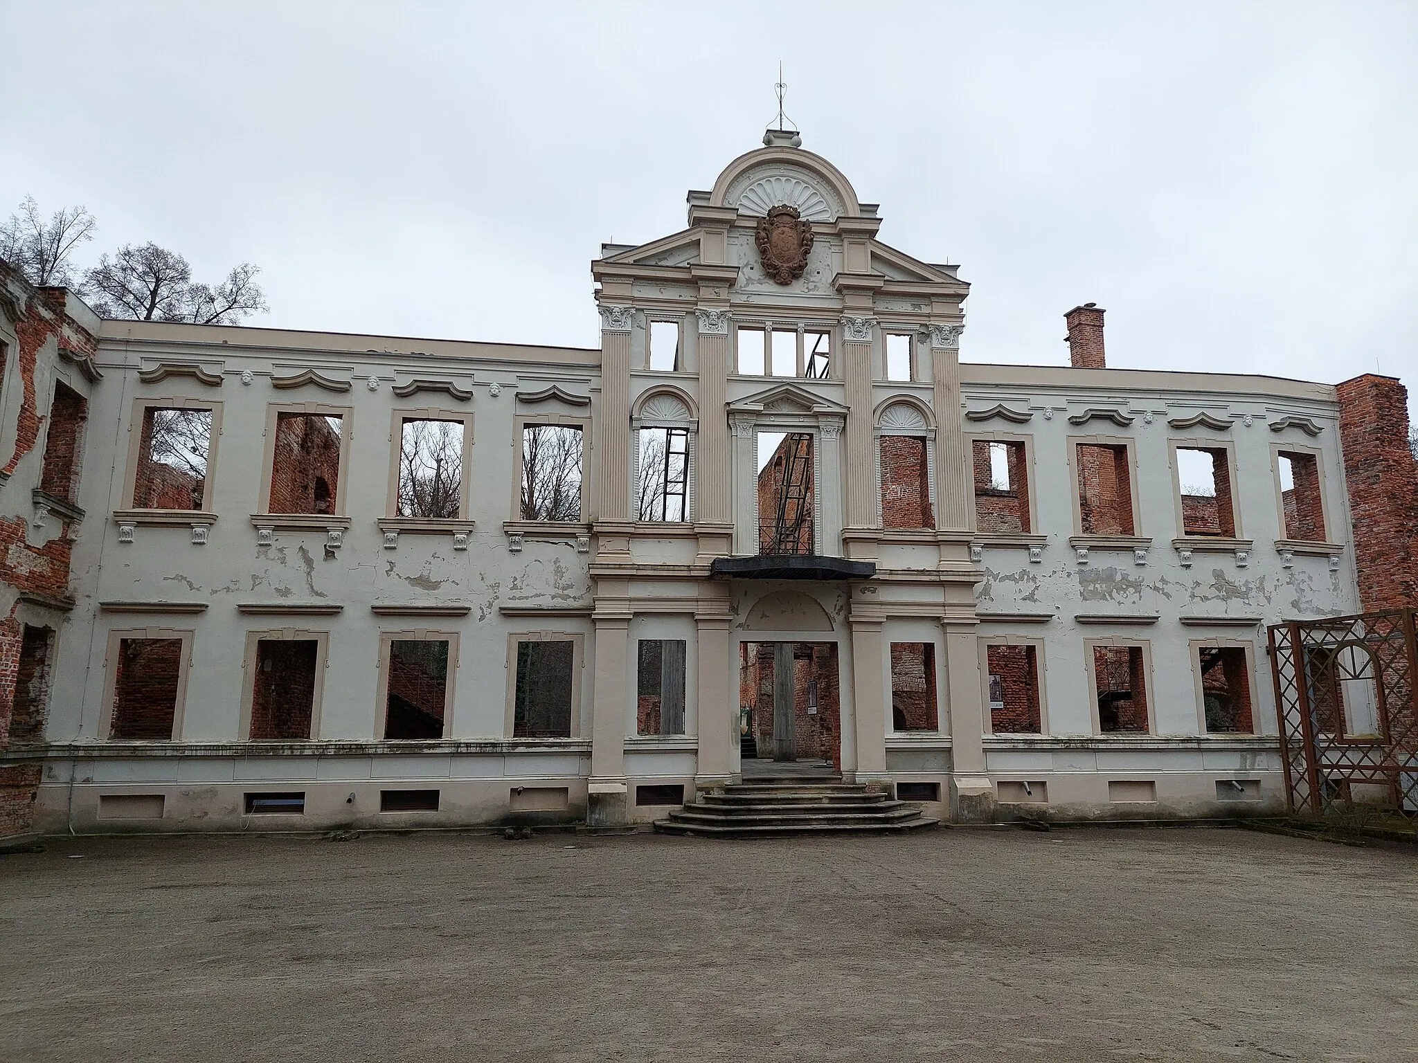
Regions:
[[[963,356],[1418,384],[1418,3],[3,0],[0,207],[262,266],[252,325],[596,346],[588,261],[804,146]],[[1414,388],[1418,390],[1418,388]]]

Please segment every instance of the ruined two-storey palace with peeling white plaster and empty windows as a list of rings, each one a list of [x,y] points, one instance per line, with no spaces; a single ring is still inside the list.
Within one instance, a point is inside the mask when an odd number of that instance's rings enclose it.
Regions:
[[[1412,587],[1351,532],[1412,489],[1353,505],[1341,446],[1347,387],[1398,461],[1401,386],[1109,369],[1092,305],[1072,364],[961,363],[968,285],[879,227],[770,132],[603,248],[598,349],[7,275],[9,829],[648,822],[753,757],[960,821],[1278,806],[1263,625]]]

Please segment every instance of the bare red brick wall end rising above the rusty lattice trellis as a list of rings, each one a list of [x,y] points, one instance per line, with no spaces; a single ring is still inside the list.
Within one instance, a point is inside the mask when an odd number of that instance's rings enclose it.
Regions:
[[[1366,611],[1418,604],[1418,463],[1408,449],[1408,390],[1366,373],[1337,391],[1358,601]]]

